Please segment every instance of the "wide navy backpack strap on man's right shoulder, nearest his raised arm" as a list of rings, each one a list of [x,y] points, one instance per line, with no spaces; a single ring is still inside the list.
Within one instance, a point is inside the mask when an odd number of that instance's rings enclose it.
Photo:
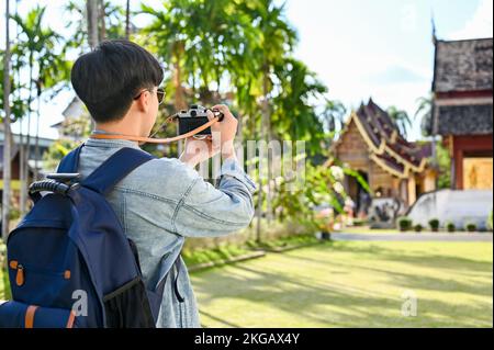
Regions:
[[[144,150],[123,147],[82,180],[81,184],[105,195],[132,170],[155,158]]]

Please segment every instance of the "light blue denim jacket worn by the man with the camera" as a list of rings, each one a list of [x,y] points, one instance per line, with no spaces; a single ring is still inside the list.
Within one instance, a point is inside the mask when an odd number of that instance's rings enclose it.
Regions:
[[[82,179],[122,147],[139,148],[125,139],[86,140],[78,169]],[[187,267],[181,258],[179,267],[173,262],[186,237],[224,236],[248,226],[254,191],[254,182],[236,161],[223,163],[214,188],[180,160],[157,158],[132,171],[108,195],[125,234],[137,246],[147,286],[156,287],[170,271],[157,327],[201,327]],[[170,283],[177,275],[182,302]]]

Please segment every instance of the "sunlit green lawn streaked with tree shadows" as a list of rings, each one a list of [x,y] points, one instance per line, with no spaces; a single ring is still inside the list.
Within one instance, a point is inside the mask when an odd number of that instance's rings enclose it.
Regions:
[[[493,326],[492,242],[328,242],[191,279],[205,327]]]

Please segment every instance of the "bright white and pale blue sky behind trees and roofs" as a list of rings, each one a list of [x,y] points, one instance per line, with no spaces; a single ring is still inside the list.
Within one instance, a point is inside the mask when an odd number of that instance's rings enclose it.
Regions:
[[[35,4],[47,5],[47,24],[63,34],[63,22],[53,19],[66,18],[61,11],[65,2],[21,0],[18,5],[21,14]],[[132,7],[136,9],[139,2],[133,0]],[[159,7],[160,0],[143,2]],[[14,5],[11,0],[11,8]],[[4,1],[0,13],[4,13]],[[372,98],[384,109],[395,105],[411,116],[417,99],[430,92],[433,18],[439,39],[493,35],[493,0],[287,0],[285,14],[299,35],[295,57],[328,87],[328,99],[340,100],[351,110]],[[145,22],[142,16],[134,19],[137,26]],[[0,29],[0,47],[4,47],[4,15]],[[41,136],[57,137],[49,126],[63,120],[61,112],[72,97],[72,91],[66,91],[42,103]],[[14,132],[19,128],[12,127]],[[409,138],[420,138],[418,120]]]

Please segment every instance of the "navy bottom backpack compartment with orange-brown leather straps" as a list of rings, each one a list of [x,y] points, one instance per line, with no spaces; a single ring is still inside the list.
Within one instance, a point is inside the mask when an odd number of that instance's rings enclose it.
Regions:
[[[70,309],[27,305],[9,301],[0,304],[0,328],[74,328]]]

